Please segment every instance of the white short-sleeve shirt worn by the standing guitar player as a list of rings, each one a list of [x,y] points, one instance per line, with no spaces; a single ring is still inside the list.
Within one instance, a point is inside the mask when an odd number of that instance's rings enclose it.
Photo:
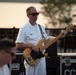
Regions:
[[[48,39],[48,36],[45,32],[45,28],[43,26],[41,26],[41,28],[42,28],[45,39]],[[19,29],[16,42],[19,42],[19,43],[28,42],[28,43],[33,43],[34,45],[36,45],[41,39],[42,39],[42,34],[41,34],[38,24],[36,24],[35,26],[32,26],[28,22],[26,25],[24,25],[23,27]]]

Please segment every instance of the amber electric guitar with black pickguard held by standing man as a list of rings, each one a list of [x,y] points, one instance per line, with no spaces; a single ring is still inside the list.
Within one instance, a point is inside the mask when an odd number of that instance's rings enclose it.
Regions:
[[[70,32],[74,28],[75,28],[75,25],[72,25],[72,26],[66,27],[65,30],[67,32]],[[63,34],[60,33],[57,37],[55,37],[53,40],[49,41],[44,46],[43,46],[43,43],[44,43],[45,39],[41,39],[37,44],[37,47],[39,48],[38,52],[35,52],[31,48],[26,48],[23,52],[24,59],[30,66],[36,66],[40,62],[41,58],[46,57],[48,55],[48,53],[43,53],[43,51],[46,48],[48,48],[50,45],[55,43],[62,36],[63,36]]]

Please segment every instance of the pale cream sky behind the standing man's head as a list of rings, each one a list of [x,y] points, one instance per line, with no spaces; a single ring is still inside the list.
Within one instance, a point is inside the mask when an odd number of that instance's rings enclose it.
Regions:
[[[20,28],[27,21],[26,8],[29,6],[35,6],[38,11],[41,10],[39,3],[11,3],[0,2],[0,28]],[[39,14],[39,24],[45,27],[46,19],[42,14]]]

